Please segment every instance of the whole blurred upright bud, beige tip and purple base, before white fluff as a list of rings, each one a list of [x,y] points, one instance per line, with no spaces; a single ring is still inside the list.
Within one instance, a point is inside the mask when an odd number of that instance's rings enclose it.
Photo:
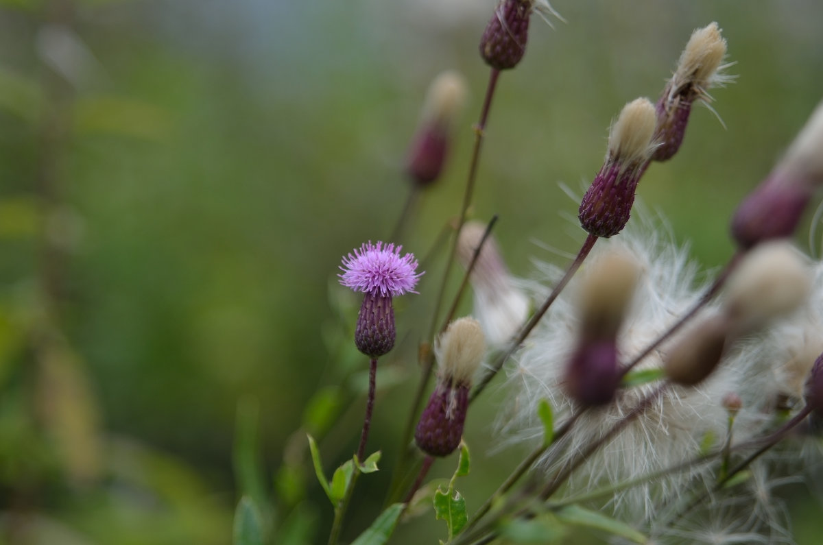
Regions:
[[[635,291],[638,268],[624,254],[597,259],[580,287],[579,342],[566,370],[566,388],[584,407],[605,405],[620,380],[617,333]]]

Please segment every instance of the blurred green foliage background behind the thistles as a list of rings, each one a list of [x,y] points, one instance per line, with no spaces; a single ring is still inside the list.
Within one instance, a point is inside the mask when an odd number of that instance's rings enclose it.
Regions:
[[[704,265],[723,263],[736,203],[823,96],[823,3],[553,5],[568,22],[532,18],[501,77],[473,216],[500,215],[519,276],[532,258],[562,263],[535,244],[579,245],[560,186],[582,193],[621,106],[656,100],[690,32],[718,21],[739,75],[712,93],[726,128],[695,109],[639,195]],[[281,543],[325,541],[305,432],[331,473],[356,446],[367,365],[337,265],[391,231],[421,100],[447,68],[472,97],[406,249],[426,254],[458,212],[493,6],[0,1],[0,543],[230,543],[239,491],[268,505]],[[441,268],[398,302],[370,438],[385,468]],[[490,454],[502,394],[469,418],[470,511],[520,454]],[[379,511],[385,473],[360,482],[345,539]],[[816,543],[805,520],[798,540]],[[443,536],[410,524],[397,543]]]

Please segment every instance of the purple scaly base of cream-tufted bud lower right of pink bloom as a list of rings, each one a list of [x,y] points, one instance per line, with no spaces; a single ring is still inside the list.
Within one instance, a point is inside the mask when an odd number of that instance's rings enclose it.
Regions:
[[[420,450],[448,456],[460,445],[468,408],[468,385],[439,381],[425,406],[414,434]]]

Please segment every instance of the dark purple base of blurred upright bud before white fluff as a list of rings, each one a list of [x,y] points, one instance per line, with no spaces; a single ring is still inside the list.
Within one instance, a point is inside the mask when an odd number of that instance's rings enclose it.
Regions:
[[[615,339],[584,340],[569,361],[566,389],[583,407],[597,407],[611,402],[619,378]]]

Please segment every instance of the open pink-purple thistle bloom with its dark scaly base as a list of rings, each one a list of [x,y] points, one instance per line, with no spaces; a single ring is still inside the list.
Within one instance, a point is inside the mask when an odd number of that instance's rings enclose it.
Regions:
[[[340,283],[365,293],[357,315],[355,343],[366,356],[383,356],[392,349],[396,336],[392,297],[407,291],[416,293],[414,287],[423,274],[416,272],[413,254],[400,257],[401,249],[370,241],[343,258]]]

